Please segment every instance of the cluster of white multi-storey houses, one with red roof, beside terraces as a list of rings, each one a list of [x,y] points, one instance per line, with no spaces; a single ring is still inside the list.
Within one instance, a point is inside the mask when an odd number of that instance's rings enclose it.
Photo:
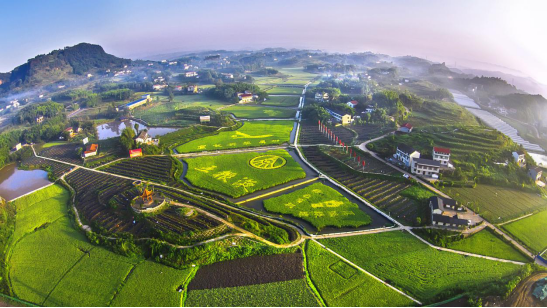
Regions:
[[[394,158],[411,170],[412,174],[438,179],[442,168],[452,168],[450,149],[434,147],[433,159],[421,158],[420,152],[406,144],[399,144]]]

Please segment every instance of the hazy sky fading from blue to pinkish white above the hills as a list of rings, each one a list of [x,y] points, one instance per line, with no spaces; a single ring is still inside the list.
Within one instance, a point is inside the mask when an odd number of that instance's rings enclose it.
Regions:
[[[545,0],[6,0],[0,12],[0,72],[87,42],[133,59],[265,47],[373,51],[497,65],[547,84]]]

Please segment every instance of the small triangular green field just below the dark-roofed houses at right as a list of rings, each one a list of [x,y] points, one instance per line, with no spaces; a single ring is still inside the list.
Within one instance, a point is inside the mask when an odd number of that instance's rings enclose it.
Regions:
[[[513,246],[497,237],[490,229],[482,230],[461,241],[450,243],[447,248],[524,263],[530,261]]]

